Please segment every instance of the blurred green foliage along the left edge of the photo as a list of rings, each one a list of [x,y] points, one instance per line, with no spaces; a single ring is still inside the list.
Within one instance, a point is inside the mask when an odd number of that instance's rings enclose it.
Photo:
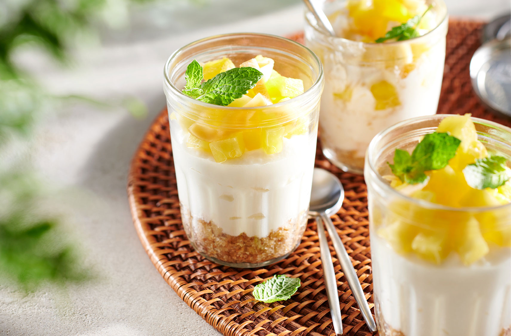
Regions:
[[[69,45],[101,19],[112,1],[0,2],[0,278],[25,291],[89,279],[90,274],[79,265],[76,244],[64,238],[60,219],[38,206],[45,194],[40,181],[29,169],[13,167],[4,154],[16,134],[29,138],[35,115],[59,99],[18,66],[15,51],[29,44],[65,63]],[[126,6],[148,1],[115,0]],[[120,105],[135,114],[144,111],[134,98]]]

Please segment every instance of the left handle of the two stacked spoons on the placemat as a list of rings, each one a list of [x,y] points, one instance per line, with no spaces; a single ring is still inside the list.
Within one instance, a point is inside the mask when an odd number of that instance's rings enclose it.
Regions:
[[[328,304],[332,323],[336,335],[342,334],[342,317],[339,305],[339,292],[337,291],[337,279],[335,278],[334,263],[328,247],[327,235],[324,233],[323,221],[321,217],[316,217],[316,224],[319,238],[319,253],[321,255],[321,265],[323,266],[324,284],[327,289]]]

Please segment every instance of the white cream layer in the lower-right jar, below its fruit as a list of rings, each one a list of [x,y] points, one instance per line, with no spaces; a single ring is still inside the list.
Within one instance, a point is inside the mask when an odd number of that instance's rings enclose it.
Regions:
[[[499,336],[511,325],[511,251],[463,266],[452,254],[440,266],[394,252],[371,232],[377,311],[405,336]]]

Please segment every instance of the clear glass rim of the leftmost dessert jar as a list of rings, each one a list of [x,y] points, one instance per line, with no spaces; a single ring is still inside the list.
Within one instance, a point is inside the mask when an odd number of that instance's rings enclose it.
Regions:
[[[213,40],[213,39],[223,38],[223,37],[236,37],[236,36],[240,36],[240,37],[241,36],[265,36],[265,37],[268,37],[268,38],[275,38],[275,39],[280,39],[280,40],[283,40],[283,41],[286,41],[286,42],[290,42],[292,44],[297,45],[300,48],[303,48],[304,50],[306,50],[312,56],[312,58],[314,59],[314,61],[318,65],[318,70],[319,71],[318,71],[318,76],[317,76],[316,80],[314,81],[314,83],[304,93],[299,94],[299,95],[297,95],[294,98],[291,98],[291,99],[289,99],[289,100],[287,100],[285,102],[282,102],[282,103],[279,102],[279,103],[272,104],[272,105],[256,106],[256,107],[220,106],[220,105],[215,105],[215,104],[210,104],[210,103],[204,103],[202,101],[196,100],[196,99],[194,99],[194,98],[192,98],[192,97],[182,93],[172,83],[172,81],[170,80],[169,66],[170,66],[171,61],[175,57],[177,57],[181,52],[187,50],[189,47],[192,47],[192,46],[194,46],[196,44],[199,44],[199,43],[202,43],[202,42],[205,42],[205,41],[208,41],[208,40]],[[305,45],[303,45],[301,43],[293,41],[293,40],[291,40],[289,38],[278,36],[278,35],[273,35],[273,34],[264,34],[264,33],[229,33],[229,34],[219,34],[219,35],[213,35],[213,36],[205,37],[205,38],[196,40],[194,42],[188,43],[188,44],[180,47],[178,50],[173,52],[172,55],[170,55],[169,59],[165,63],[165,66],[164,66],[164,79],[165,79],[165,85],[167,87],[169,87],[175,94],[177,94],[185,102],[188,102],[190,104],[196,104],[196,105],[203,106],[203,107],[206,107],[206,108],[211,108],[211,107],[216,106],[217,108],[222,108],[222,109],[231,110],[231,111],[234,111],[234,110],[236,110],[236,111],[248,111],[248,110],[252,110],[253,111],[253,110],[258,110],[258,109],[266,109],[268,107],[291,105],[291,104],[295,103],[297,99],[305,99],[306,101],[311,100],[313,98],[313,96],[314,96],[315,89],[318,86],[321,85],[321,81],[323,79],[323,65],[321,64],[321,61],[317,58],[316,54],[314,54],[314,52],[312,52],[308,47],[306,47]]]

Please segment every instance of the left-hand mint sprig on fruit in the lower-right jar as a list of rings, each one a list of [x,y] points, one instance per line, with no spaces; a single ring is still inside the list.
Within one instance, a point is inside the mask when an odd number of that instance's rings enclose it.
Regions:
[[[396,149],[394,164],[388,163],[392,174],[402,182],[416,184],[427,178],[425,172],[444,168],[456,155],[461,141],[447,133],[426,134],[412,154]]]

